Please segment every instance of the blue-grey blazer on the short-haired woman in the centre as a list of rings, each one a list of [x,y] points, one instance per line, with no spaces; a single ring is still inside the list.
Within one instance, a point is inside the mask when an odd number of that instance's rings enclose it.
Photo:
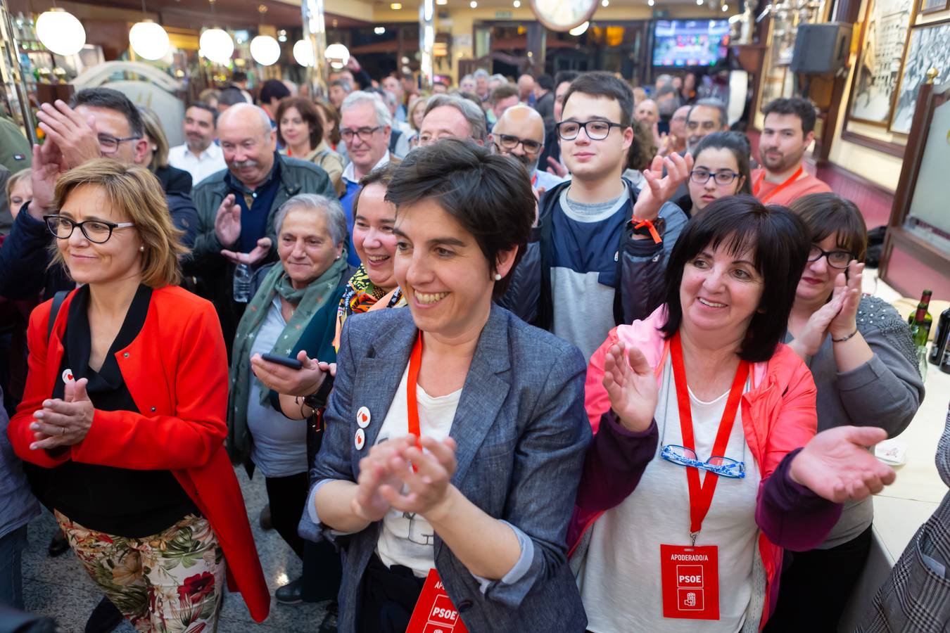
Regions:
[[[314,461],[314,484],[355,481],[360,458],[353,435],[366,406],[372,446],[402,379],[417,335],[409,309],[347,319],[328,402],[326,435]],[[480,582],[435,535],[435,566],[470,631],[582,632],[587,624],[567,563],[573,511],[590,424],[583,410],[584,360],[577,347],[492,306],[459,400],[451,436],[458,443],[452,484],[491,516],[529,539],[530,564],[513,583]],[[347,536],[320,525],[343,550],[340,633],[356,630],[363,574],[381,522]]]

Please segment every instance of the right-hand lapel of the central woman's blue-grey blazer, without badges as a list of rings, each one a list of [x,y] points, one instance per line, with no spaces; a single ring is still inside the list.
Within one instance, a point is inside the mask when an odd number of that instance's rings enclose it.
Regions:
[[[472,458],[478,453],[508,396],[511,387],[507,376],[511,367],[508,354],[507,318],[499,307],[492,305],[452,419],[450,435],[458,444],[455,452],[458,465],[455,475],[452,475],[452,484],[456,487],[465,478]]]

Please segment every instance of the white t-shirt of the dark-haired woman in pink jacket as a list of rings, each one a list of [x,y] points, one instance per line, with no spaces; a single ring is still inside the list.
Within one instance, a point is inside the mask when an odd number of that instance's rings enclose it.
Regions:
[[[697,400],[690,392],[696,455],[701,460],[712,454],[728,399],[728,391],[712,402]],[[660,425],[656,456],[647,465],[637,489],[618,507],[604,512],[592,528],[590,548],[578,578],[589,620],[587,628],[595,633],[735,633],[742,628],[750,607],[758,536],[755,501],[761,479],[746,443],[741,407],[725,456],[744,461],[746,477],[719,477],[710,511],[696,539],[697,546],[719,548],[718,621],[663,617],[659,546],[690,544],[686,468],[659,456],[663,446],[683,443],[669,359],[660,380],[656,422]],[[704,476],[701,472],[703,481]]]

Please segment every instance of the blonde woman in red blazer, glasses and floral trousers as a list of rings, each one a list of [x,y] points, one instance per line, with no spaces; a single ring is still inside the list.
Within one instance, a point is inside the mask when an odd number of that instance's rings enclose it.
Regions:
[[[96,159],[30,204],[84,286],[51,326],[51,301],[30,317],[16,454],[46,469],[43,501],[137,629],[215,628],[226,575],[262,621],[270,594],[223,448],[224,342],[211,304],[174,286],[184,250],[158,181]]]

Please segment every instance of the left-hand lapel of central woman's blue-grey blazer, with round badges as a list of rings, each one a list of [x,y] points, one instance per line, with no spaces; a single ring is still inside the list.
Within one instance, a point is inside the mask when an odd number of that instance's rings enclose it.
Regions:
[[[356,474],[359,460],[376,443],[379,429],[383,426],[383,420],[386,419],[392,399],[396,396],[396,389],[399,388],[406,365],[409,364],[409,353],[418,331],[409,308],[392,309],[402,312],[400,318],[377,334],[367,356],[359,361],[356,370],[351,419],[347,420],[352,423],[353,433],[358,428],[356,412],[361,406],[368,408],[371,416],[370,425],[366,428],[366,448],[353,453],[353,473]]]

